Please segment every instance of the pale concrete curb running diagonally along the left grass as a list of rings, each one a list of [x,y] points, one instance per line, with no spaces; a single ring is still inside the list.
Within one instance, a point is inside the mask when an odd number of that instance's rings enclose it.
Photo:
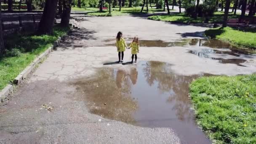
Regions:
[[[51,53],[61,43],[61,40],[63,40],[64,37],[67,37],[67,35],[72,32],[74,27],[77,27],[76,21],[73,22],[67,34],[59,37],[51,46],[49,46],[49,48],[47,48],[43,53],[37,56],[22,72],[20,72],[19,75],[14,78],[12,84],[8,84],[7,86],[5,86],[5,88],[3,88],[3,90],[0,91],[0,102],[3,102],[5,99],[7,99],[8,95],[13,93],[13,89],[15,88],[15,86],[19,85],[23,80],[25,80],[30,72],[35,68],[35,66],[42,62],[45,57],[48,56],[48,54]]]

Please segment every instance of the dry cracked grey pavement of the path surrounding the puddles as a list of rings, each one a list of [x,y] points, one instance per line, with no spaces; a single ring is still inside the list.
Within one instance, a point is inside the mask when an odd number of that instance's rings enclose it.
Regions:
[[[83,19],[81,19],[83,18]],[[10,101],[0,106],[0,143],[83,143],[83,144],[178,144],[177,134],[171,128],[142,128],[108,120],[88,112],[83,93],[70,82],[90,78],[101,67],[128,69],[130,65],[103,65],[117,60],[115,35],[138,35],[144,40],[175,41],[181,38],[200,38],[206,27],[168,24],[140,17],[77,17],[80,30],[75,30],[50,53],[42,64],[24,81]],[[128,43],[130,40],[127,41]],[[139,61],[163,61],[172,64],[179,75],[202,72],[213,75],[249,74],[256,71],[255,55],[241,55],[246,67],[221,64],[218,60],[200,58],[189,50],[204,47],[141,47]],[[233,58],[226,54],[217,57]],[[130,51],[125,52],[130,61]],[[45,105],[45,106],[43,106]],[[47,106],[46,106],[47,105]],[[51,111],[48,108],[51,107]],[[206,138],[205,138],[206,139]],[[203,144],[199,139],[197,144]],[[194,144],[195,141],[184,141]]]

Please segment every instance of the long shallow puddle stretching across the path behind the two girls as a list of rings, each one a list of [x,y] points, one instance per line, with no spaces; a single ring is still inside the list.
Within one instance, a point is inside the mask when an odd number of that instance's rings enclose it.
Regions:
[[[126,39],[128,43],[131,38]],[[115,46],[113,43],[115,39],[105,40],[108,46]],[[109,43],[110,42],[110,43]],[[237,64],[238,66],[245,67],[242,63],[246,62],[245,58],[252,56],[253,50],[240,49],[229,43],[225,43],[215,39],[182,39],[174,42],[165,42],[162,40],[140,40],[140,46],[143,47],[173,47],[182,46],[189,47],[188,53],[195,54],[200,58],[218,60],[221,64]],[[202,49],[203,48],[203,49]],[[229,58],[223,58],[228,56]],[[231,58],[230,58],[231,57]]]

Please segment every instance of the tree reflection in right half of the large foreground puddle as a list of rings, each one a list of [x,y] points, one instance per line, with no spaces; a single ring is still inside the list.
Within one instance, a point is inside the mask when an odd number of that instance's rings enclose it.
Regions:
[[[180,120],[184,120],[184,115],[190,114],[189,99],[187,97],[189,82],[196,76],[176,75],[172,72],[168,72],[167,67],[168,65],[166,63],[149,61],[143,69],[144,76],[150,86],[154,83],[158,83],[157,87],[161,93],[174,92],[167,101],[174,101],[173,109],[176,110],[176,115]]]

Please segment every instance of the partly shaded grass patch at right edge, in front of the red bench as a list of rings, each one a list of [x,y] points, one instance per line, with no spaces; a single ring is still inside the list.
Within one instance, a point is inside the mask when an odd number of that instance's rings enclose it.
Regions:
[[[253,28],[215,28],[205,31],[205,35],[211,38],[227,41],[229,43],[256,49],[256,29]]]

